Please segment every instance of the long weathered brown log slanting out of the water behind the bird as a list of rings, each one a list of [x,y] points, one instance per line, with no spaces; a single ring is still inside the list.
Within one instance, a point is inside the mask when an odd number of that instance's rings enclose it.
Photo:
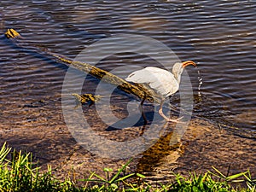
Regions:
[[[14,29],[8,29],[8,31],[5,32],[5,36],[13,40],[15,45],[20,48],[29,49],[42,55],[50,55],[52,59],[55,59],[56,61],[67,65],[68,67],[77,68],[82,72],[89,73],[96,79],[102,79],[109,84],[114,84],[119,90],[124,90],[126,93],[133,94],[140,99],[147,100],[148,102],[160,102],[160,97],[157,96],[157,94],[153,90],[148,90],[145,86],[143,86],[143,84],[130,84],[125,81],[125,79],[121,79],[118,76],[113,75],[112,73],[91,66],[86,62],[72,61],[71,59],[68,59],[63,55],[55,54],[48,49],[43,49],[38,46],[29,44],[24,38],[20,36],[20,33],[16,32]]]

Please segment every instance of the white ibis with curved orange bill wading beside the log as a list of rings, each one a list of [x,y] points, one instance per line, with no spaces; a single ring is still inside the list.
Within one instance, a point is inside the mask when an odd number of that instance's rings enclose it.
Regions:
[[[166,119],[166,121],[177,122],[183,117],[178,119],[167,118],[163,113],[162,108],[166,97],[172,96],[179,89],[179,83],[183,69],[189,65],[196,66],[195,62],[193,61],[177,62],[172,67],[172,73],[158,67],[146,67],[131,73],[125,80],[137,84],[147,84],[150,89],[156,91],[156,93],[161,97],[159,109],[160,115]],[[141,105],[143,105],[143,102]]]

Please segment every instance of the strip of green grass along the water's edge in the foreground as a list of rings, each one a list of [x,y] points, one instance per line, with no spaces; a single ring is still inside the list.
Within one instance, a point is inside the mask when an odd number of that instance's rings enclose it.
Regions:
[[[9,157],[11,154],[11,157]],[[9,158],[8,158],[9,157]],[[10,159],[10,160],[9,160]],[[0,191],[251,191],[256,192],[256,180],[252,179],[249,171],[241,172],[232,176],[224,176],[213,167],[214,172],[203,175],[195,173],[190,177],[182,177],[179,174],[170,173],[174,176],[169,184],[160,184],[154,187],[144,182],[144,176],[139,173],[127,172],[126,168],[131,163],[129,160],[119,171],[113,172],[105,168],[105,177],[91,172],[86,179],[78,183],[67,177],[64,181],[58,180],[52,174],[51,167],[48,172],[40,171],[40,168],[32,163],[32,154],[11,152],[11,148],[3,144],[0,149]],[[239,184],[246,183],[247,188],[240,189]],[[82,183],[82,184],[81,184]],[[233,186],[233,187],[232,187]],[[234,187],[237,186],[237,187]]]

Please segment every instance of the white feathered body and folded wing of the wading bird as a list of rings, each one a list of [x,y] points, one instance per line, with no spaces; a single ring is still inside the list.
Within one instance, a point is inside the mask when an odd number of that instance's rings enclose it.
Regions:
[[[150,88],[164,97],[170,96],[178,90],[177,80],[172,73],[158,67],[146,67],[138,70],[131,73],[125,80],[137,84],[148,84]]]

